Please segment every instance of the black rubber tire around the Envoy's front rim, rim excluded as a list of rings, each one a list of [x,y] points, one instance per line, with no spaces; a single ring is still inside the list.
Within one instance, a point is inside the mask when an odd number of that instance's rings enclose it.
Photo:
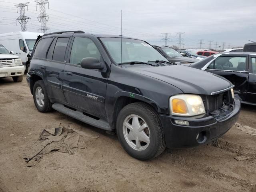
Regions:
[[[132,148],[124,137],[123,123],[126,117],[135,114],[144,119],[150,130],[150,143],[144,150],[138,151]],[[166,148],[164,132],[160,118],[155,110],[148,104],[136,102],[125,106],[119,113],[116,121],[118,139],[126,152],[138,160],[150,160],[160,155]]]

